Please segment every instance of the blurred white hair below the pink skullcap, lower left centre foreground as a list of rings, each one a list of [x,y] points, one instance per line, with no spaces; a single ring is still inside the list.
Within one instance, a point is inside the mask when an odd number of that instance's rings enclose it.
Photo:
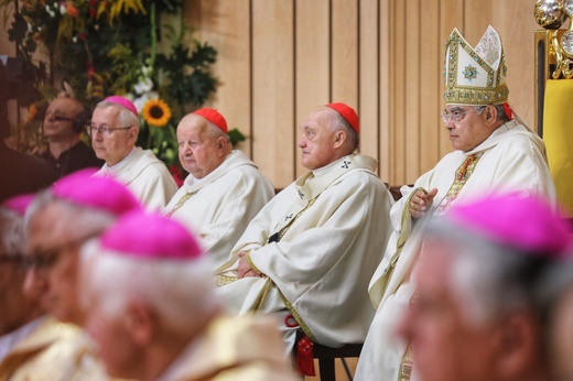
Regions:
[[[116,317],[136,300],[158,313],[167,327],[190,333],[220,307],[209,269],[206,259],[147,260],[107,252],[94,239],[82,248],[82,303],[88,303],[88,289],[98,295],[101,312]]]

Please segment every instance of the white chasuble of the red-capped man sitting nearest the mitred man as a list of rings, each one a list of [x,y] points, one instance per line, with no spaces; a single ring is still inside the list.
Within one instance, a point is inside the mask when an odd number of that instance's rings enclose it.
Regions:
[[[361,342],[375,312],[368,281],[390,233],[393,204],[375,168],[374,159],[348,155],[267,204],[219,272],[228,311],[285,312],[316,342]],[[263,277],[237,279],[240,251]]]

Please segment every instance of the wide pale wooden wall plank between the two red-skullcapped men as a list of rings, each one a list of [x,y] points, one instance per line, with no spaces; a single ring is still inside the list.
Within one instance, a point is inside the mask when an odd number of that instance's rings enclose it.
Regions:
[[[294,0],[252,1],[252,160],[275,187],[295,176]]]

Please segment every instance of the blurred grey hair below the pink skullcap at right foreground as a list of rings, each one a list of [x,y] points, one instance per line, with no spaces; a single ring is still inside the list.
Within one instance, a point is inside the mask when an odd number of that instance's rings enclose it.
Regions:
[[[445,242],[452,249],[450,285],[469,322],[479,326],[515,311],[537,312],[534,284],[549,263],[542,255],[445,219],[430,221],[424,237]]]

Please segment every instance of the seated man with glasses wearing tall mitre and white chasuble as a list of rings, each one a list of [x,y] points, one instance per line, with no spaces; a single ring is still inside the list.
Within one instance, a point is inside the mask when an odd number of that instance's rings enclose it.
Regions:
[[[408,342],[392,333],[415,291],[410,271],[420,255],[417,221],[491,192],[518,190],[556,203],[543,141],[508,105],[506,58],[497,32],[489,26],[474,48],[454,29],[445,57],[442,120],[455,151],[413,186],[403,186],[402,198],[390,210],[393,232],[369,284],[377,313],[356,380],[411,378]]]

